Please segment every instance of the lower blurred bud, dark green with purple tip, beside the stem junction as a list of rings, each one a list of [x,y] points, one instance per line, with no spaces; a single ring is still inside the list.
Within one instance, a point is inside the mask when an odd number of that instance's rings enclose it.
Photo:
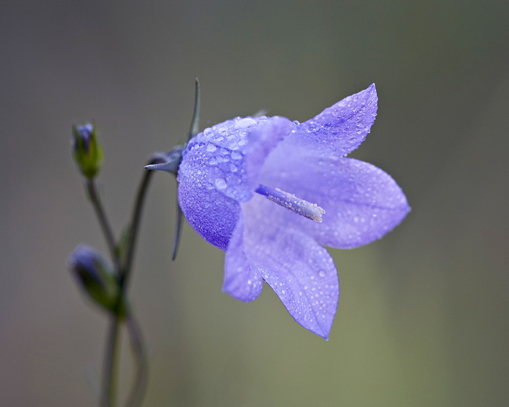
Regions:
[[[82,290],[95,303],[117,312],[118,280],[101,254],[92,247],[79,245],[69,255],[67,262]]]

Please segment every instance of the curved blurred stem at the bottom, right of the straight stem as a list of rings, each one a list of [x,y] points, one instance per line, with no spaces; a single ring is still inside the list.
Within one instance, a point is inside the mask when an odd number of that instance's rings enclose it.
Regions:
[[[130,313],[127,316],[126,325],[130,336],[131,351],[136,361],[136,377],[126,406],[135,407],[141,404],[147,389],[148,361],[141,330]]]

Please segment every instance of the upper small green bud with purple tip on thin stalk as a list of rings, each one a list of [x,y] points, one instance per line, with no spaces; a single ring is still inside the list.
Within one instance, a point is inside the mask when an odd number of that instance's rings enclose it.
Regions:
[[[81,173],[87,178],[97,175],[102,163],[102,148],[97,142],[95,124],[72,127],[72,154]]]

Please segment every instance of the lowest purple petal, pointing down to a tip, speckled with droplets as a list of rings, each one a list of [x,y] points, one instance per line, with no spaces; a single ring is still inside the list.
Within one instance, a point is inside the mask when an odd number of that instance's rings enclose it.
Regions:
[[[339,298],[339,281],[327,250],[284,221],[287,209],[256,195],[242,204],[244,250],[290,315],[327,339]]]

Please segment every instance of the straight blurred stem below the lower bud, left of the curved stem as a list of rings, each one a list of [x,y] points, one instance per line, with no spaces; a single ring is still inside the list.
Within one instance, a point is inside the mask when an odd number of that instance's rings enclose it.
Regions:
[[[106,348],[106,356],[104,360],[104,378],[101,407],[115,407],[117,405],[117,387],[118,387],[118,371],[121,325],[119,317],[111,314],[111,321],[108,334],[108,345]]]

